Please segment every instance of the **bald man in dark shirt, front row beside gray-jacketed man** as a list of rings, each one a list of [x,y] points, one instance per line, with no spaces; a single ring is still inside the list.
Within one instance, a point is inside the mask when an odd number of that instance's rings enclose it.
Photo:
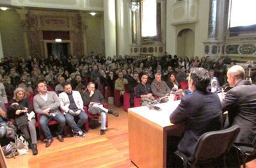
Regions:
[[[141,98],[142,106],[145,106],[152,100],[154,100],[154,97],[152,96],[152,91],[150,84],[148,82],[148,75],[142,74],[141,76],[141,83],[137,84],[136,86],[136,97]]]

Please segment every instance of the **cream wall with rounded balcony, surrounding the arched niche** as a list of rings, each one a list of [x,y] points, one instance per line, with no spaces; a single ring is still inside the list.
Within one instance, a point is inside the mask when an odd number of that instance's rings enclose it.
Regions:
[[[190,53],[188,56],[203,56],[204,55],[204,44],[208,36],[208,13],[209,13],[208,0],[190,0],[180,1],[167,0],[167,17],[166,17],[166,51],[168,54],[178,54],[180,49],[177,47],[177,34],[180,30],[189,28],[194,32],[194,52],[190,50],[183,51],[182,53]],[[183,6],[182,6],[183,4]],[[196,6],[196,8],[194,8]],[[192,8],[193,7],[193,8]],[[181,9],[182,12],[180,11]],[[192,9],[195,12],[191,13]],[[181,14],[174,16],[177,12]],[[180,17],[180,19],[177,19]],[[175,19],[176,18],[176,19]]]

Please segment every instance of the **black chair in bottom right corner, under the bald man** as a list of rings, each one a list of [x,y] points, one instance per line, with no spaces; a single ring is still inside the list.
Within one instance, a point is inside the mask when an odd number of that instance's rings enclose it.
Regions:
[[[246,162],[252,160],[252,156],[256,154],[256,137],[254,138],[253,146],[246,146],[240,144],[234,144],[234,148],[236,148],[238,152],[238,161],[240,165],[243,165],[243,168],[246,168]],[[255,156],[254,156],[255,158]]]

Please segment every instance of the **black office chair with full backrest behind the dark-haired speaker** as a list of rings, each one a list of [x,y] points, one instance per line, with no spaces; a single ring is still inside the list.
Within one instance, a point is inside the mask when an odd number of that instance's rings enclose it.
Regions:
[[[179,150],[174,153],[182,159],[185,168],[197,167],[220,158],[223,159],[223,166],[226,167],[226,154],[233,146],[239,131],[239,126],[235,125],[224,130],[204,133],[198,139],[195,152],[190,158]]]

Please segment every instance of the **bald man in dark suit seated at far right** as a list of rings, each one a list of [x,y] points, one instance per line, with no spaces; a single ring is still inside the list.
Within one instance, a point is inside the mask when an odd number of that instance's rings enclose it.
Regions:
[[[244,68],[232,66],[228,72],[232,87],[222,100],[222,112],[228,111],[228,126],[238,125],[235,143],[252,146],[256,141],[256,85],[244,80]]]

